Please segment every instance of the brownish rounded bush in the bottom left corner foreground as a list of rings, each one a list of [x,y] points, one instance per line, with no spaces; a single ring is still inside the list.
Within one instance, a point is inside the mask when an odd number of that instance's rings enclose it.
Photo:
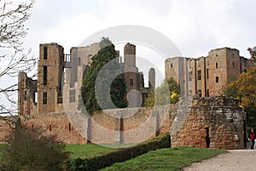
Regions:
[[[54,135],[45,136],[40,128],[18,125],[6,138],[1,170],[57,171],[63,169],[69,152]]]

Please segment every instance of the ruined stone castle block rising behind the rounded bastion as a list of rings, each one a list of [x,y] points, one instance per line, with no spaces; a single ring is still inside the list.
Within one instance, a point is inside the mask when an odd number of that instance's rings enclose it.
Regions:
[[[165,61],[166,79],[173,77],[183,96],[222,95],[227,83],[252,67],[256,63],[240,56],[236,48],[213,49],[206,57],[175,57]]]

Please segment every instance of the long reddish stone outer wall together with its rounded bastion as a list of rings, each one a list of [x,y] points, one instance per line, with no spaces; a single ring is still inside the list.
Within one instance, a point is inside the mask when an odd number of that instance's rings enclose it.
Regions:
[[[112,109],[91,117],[78,113],[38,114],[21,120],[27,127],[40,126],[67,144],[137,144],[170,132],[172,146],[192,145],[223,149],[244,148],[246,113],[237,100],[224,97],[181,98],[177,105],[155,108]],[[1,127],[0,137],[8,134]]]

